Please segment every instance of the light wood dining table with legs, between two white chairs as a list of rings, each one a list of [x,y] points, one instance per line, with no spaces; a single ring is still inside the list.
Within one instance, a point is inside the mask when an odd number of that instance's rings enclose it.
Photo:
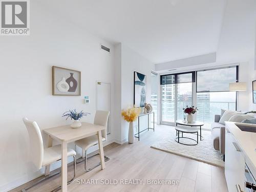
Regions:
[[[49,129],[43,130],[45,134],[48,135],[48,147],[52,146],[52,140],[55,139],[61,142],[61,150],[62,150],[62,159],[61,159],[61,190],[68,191],[68,157],[67,157],[67,147],[68,143],[74,142],[76,140],[90,137],[92,135],[98,135],[98,144],[99,144],[99,152],[100,152],[100,162],[101,169],[105,168],[104,161],[104,152],[102,145],[102,137],[101,131],[104,130],[104,126],[82,122],[82,126],[73,129],[70,125],[65,126],[57,126]],[[48,172],[50,172],[50,166],[46,167]]]

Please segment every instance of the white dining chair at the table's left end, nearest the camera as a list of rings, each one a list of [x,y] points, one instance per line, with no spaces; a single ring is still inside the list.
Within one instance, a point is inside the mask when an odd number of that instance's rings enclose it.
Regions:
[[[30,121],[25,117],[25,118],[23,118],[23,122],[26,125],[28,134],[29,134],[30,160],[32,161],[32,163],[38,170],[41,169],[42,167],[45,167],[45,177],[40,179],[39,181],[33,183],[29,187],[22,189],[22,191],[25,192],[27,189],[35,186],[39,182],[49,179],[49,178],[60,173],[60,172],[58,172],[58,173],[51,174],[51,175],[47,174],[46,165],[50,165],[52,163],[55,163],[56,161],[61,160],[62,153],[61,153],[61,144],[54,145],[54,146],[48,147],[48,148],[44,148],[41,131],[35,121]],[[72,150],[71,148],[68,148],[68,156],[73,156],[73,158],[74,158],[74,176],[70,181],[68,181],[68,184],[69,184],[75,178],[76,152],[74,150]],[[53,189],[52,191],[57,191],[59,189],[61,189],[61,186],[58,186],[57,188]]]

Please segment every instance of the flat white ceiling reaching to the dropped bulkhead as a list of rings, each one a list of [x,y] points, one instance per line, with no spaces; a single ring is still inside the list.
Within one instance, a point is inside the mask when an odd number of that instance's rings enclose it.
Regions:
[[[45,3],[55,13],[154,63],[216,52],[226,0],[84,0]]]

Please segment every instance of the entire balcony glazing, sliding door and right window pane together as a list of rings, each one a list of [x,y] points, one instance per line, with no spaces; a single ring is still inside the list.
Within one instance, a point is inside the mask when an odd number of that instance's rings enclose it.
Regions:
[[[210,129],[221,109],[236,110],[237,94],[229,92],[229,83],[237,79],[238,66],[162,75],[160,123],[174,125],[184,119],[183,108],[195,105],[199,109],[195,117],[204,122],[204,129]]]

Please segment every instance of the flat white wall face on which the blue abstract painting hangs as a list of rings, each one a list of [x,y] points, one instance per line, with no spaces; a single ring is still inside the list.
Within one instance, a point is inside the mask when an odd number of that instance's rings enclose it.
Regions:
[[[129,47],[121,46],[121,108],[126,109],[133,106],[134,103],[134,71],[146,75],[146,102],[151,102],[151,70],[153,63],[134,52]],[[145,117],[144,117],[145,118]],[[146,121],[142,119],[142,126]],[[129,123],[122,119],[121,121],[122,142],[127,140]]]

